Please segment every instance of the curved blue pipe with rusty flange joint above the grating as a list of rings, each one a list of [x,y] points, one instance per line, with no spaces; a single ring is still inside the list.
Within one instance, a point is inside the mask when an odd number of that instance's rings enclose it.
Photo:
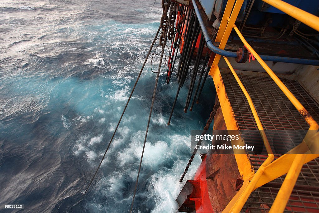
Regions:
[[[226,57],[232,57],[236,58],[237,53],[236,52],[231,52],[231,51],[226,51],[223,49],[219,49],[216,47],[213,42],[211,41],[211,37],[207,32],[206,26],[204,24],[204,21],[199,13],[197,4],[195,0],[192,0],[193,6],[195,13],[197,15],[197,19],[199,22],[200,27],[202,28],[202,32],[204,35],[204,38],[206,40],[206,46],[208,49],[213,51],[214,53],[221,55],[221,56],[226,56]],[[289,57],[280,57],[280,56],[266,56],[266,55],[259,55],[264,61],[273,61],[273,62],[284,62],[284,63],[292,63],[292,64],[304,64],[304,65],[319,65],[319,60],[313,60],[313,59],[304,59],[304,58],[289,58]]]

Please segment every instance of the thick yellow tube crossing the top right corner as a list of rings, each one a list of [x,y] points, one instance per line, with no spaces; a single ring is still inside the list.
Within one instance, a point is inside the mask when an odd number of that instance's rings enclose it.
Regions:
[[[284,1],[280,1],[280,0],[262,0],[262,1],[267,4],[270,4],[273,7],[276,7],[278,10],[285,12],[291,17],[301,21],[305,25],[308,25],[309,27],[319,31],[319,17],[311,13],[308,13],[306,11],[303,11],[299,9],[298,7],[295,7]]]

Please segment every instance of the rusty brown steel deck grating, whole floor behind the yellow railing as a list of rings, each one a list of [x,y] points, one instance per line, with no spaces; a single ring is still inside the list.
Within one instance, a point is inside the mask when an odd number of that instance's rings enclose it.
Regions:
[[[239,128],[242,130],[256,130],[257,125],[251,113],[248,101],[241,91],[237,81],[231,73],[221,73],[226,93],[234,110]],[[264,129],[304,129],[309,128],[298,110],[289,101],[275,82],[269,77],[238,75],[247,89],[256,107],[258,116]],[[295,80],[281,79],[286,87],[295,95],[300,103],[308,110],[313,118],[319,120],[319,104]],[[243,134],[245,137],[245,134]],[[284,138],[280,138],[284,140]],[[244,138],[245,140],[245,138]],[[259,141],[258,141],[259,140]],[[256,139],[262,143],[261,139]],[[294,137],[294,145],[301,142],[301,138]],[[281,148],[289,150],[293,144],[281,144]],[[250,154],[250,160],[255,171],[267,158],[265,155]],[[275,159],[280,155],[276,155]],[[241,212],[268,212],[278,190],[285,179],[283,175],[264,186],[257,188],[246,202]],[[286,205],[285,212],[305,213],[319,212],[319,159],[304,164],[293,193]]]

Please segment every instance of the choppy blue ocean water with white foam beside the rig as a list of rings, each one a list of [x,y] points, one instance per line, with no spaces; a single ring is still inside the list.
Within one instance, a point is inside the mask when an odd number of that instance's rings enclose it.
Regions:
[[[0,203],[18,212],[128,212],[155,76],[150,61],[90,190],[85,190],[144,62],[161,17],[160,1],[0,1]],[[158,58],[154,58],[156,69]],[[181,90],[161,73],[134,212],[175,212],[191,155],[190,130],[214,103],[184,113]],[[191,179],[196,156],[185,179]],[[0,212],[12,212],[0,210]],[[15,212],[15,211],[13,211]]]

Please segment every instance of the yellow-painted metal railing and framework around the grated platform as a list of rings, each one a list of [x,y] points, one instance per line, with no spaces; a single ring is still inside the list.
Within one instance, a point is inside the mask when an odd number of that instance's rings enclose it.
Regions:
[[[304,24],[308,25],[309,27],[312,27],[319,31],[318,17],[308,12],[302,11],[299,8],[294,7],[280,0],[262,0],[262,1],[276,7],[277,9],[281,11],[286,12],[288,15],[292,16],[293,18],[298,19]],[[304,108],[304,106],[296,99],[296,97],[290,92],[290,90],[284,85],[284,83],[277,77],[277,75],[261,59],[261,57],[259,57],[256,51],[249,45],[249,43],[242,36],[241,32],[234,25],[237,19],[237,16],[239,14],[239,11],[241,9],[242,3],[243,3],[243,0],[237,0],[236,2],[235,0],[227,1],[224,15],[219,27],[219,31],[215,39],[216,42],[220,42],[219,48],[220,49],[225,48],[229,35],[231,31],[234,29],[236,33],[238,34],[238,36],[240,37],[243,44],[249,50],[249,52],[256,58],[256,60],[265,69],[265,71],[269,74],[272,80],[274,80],[274,82],[278,85],[278,87],[283,91],[283,93],[287,96],[287,98],[291,101],[291,103],[293,103],[295,108],[300,112],[300,114],[306,120],[306,122],[310,126],[309,130],[318,130],[319,126],[317,122],[311,117],[311,115]],[[226,92],[224,91],[225,87],[222,85],[223,84],[222,78],[218,68],[220,58],[221,58],[220,55],[215,56],[209,74],[213,77],[217,92],[221,95],[226,96]],[[226,61],[226,64],[229,66],[229,69],[233,73],[241,90],[243,91],[244,95],[246,96],[248,100],[250,109],[252,110],[254,119],[256,120],[256,124],[258,126],[258,129],[260,130],[261,136],[263,138],[263,142],[267,149],[268,158],[263,162],[263,164],[259,167],[256,173],[251,175],[251,172],[247,170],[247,165],[242,164],[242,162],[247,164],[246,157],[242,157],[242,156],[239,156],[238,154],[235,154],[235,158],[238,164],[238,169],[241,175],[243,176],[244,184],[241,187],[241,189],[238,191],[238,193],[234,196],[234,198],[231,200],[231,202],[229,202],[229,204],[226,206],[223,212],[240,212],[240,210],[244,206],[245,202],[247,201],[249,195],[251,194],[253,190],[287,173],[286,178],[282,186],[280,187],[280,190],[270,210],[271,213],[283,212],[285,210],[286,203],[288,202],[288,199],[293,190],[293,187],[296,183],[298,175],[301,171],[302,165],[319,156],[318,154],[311,154],[311,152],[310,154],[308,154],[309,148],[313,147],[313,144],[314,144],[314,142],[311,142],[311,141],[315,141],[310,139],[313,139],[314,137],[318,137],[318,133],[315,133],[315,131],[308,131],[308,133],[306,134],[306,137],[304,138],[304,140],[302,141],[302,143],[300,143],[298,147],[294,148],[293,150],[289,151],[287,154],[273,161],[274,155],[272,153],[267,137],[263,131],[263,126],[260,122],[257,111],[254,107],[254,104],[247,90],[245,89],[240,79],[238,78],[230,62],[228,61],[226,57],[224,57],[224,59]],[[223,108],[230,108],[229,100],[227,100],[227,98],[224,98],[223,100],[224,101],[221,102],[222,111],[223,111]],[[236,123],[234,116],[230,116],[230,117],[231,118],[229,120],[233,121],[233,123],[234,122]],[[226,121],[226,126],[228,129],[230,129],[229,127],[236,126],[236,124],[227,125],[227,119],[225,119],[225,121]],[[304,153],[304,154],[295,154],[296,153],[295,150],[298,150],[298,153]],[[300,150],[303,150],[303,152],[300,152]]]

